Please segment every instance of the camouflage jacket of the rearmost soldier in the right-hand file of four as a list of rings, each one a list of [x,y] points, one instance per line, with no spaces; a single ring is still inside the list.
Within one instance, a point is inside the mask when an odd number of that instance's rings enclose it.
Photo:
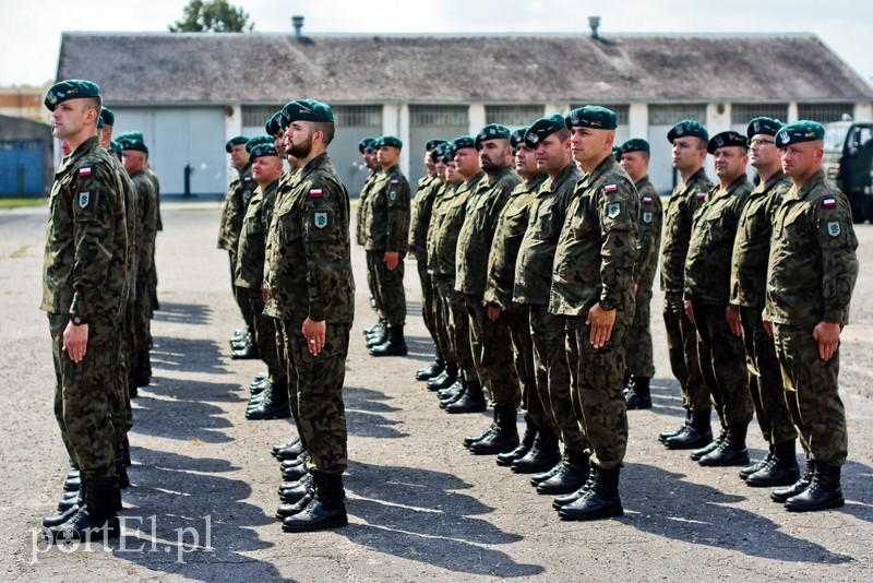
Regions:
[[[663,212],[663,247],[661,248],[661,289],[682,294],[685,290],[685,257],[689,253],[694,213],[706,200],[713,181],[703,168],[673,189]]]

